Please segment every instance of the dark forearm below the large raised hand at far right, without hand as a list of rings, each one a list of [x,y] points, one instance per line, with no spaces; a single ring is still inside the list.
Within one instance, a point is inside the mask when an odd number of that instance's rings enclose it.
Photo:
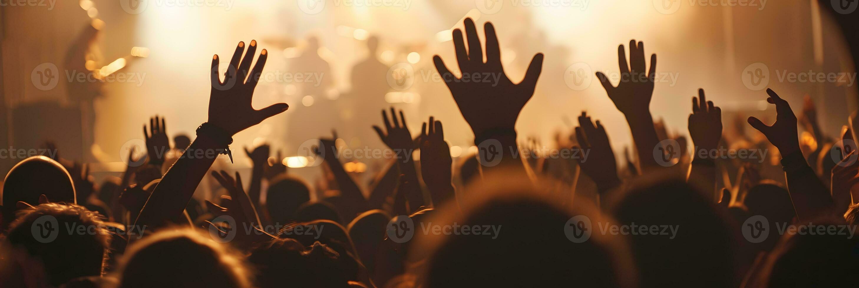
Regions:
[[[832,198],[800,151],[783,155],[782,168],[788,183],[790,199],[799,219],[811,219],[829,213]]]

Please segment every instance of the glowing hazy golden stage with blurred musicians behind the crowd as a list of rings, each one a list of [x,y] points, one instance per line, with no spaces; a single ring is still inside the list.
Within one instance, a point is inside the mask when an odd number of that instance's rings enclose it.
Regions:
[[[141,125],[155,114],[167,117],[171,137],[193,136],[206,121],[212,54],[229,57],[236,43],[252,39],[271,53],[264,71],[271,78],[260,81],[253,105],[290,107],[235,135],[235,167],[251,164],[241,147],[268,142],[284,157],[297,156],[303,142],[332,129],[349,147],[381,148],[370,125],[381,124],[381,109],[392,105],[405,110],[412,134],[430,115],[441,119],[454,156],[465,155],[473,149],[471,131],[444,83],[433,81],[432,56],[456,66],[450,29],[466,15],[495,24],[513,81],[521,80],[534,53],[545,53],[537,91],[517,124],[521,140],[551,145],[587,110],[606,126],[615,150],[629,146],[624,117],[593,73],[617,73],[617,46],[630,39],[658,55],[665,80],[656,84],[650,110],[672,133],[687,134],[689,99],[698,87],[726,111],[726,127],[735,113],[773,117],[763,111],[765,92],[742,78],[750,69],[759,72],[760,64],[769,72],[767,87],[795,111],[802,97],[812,96],[828,135],[838,135],[856,109],[856,83],[782,78],[784,72],[855,70],[842,34],[817,1],[769,1],[763,9],[762,3],[663,0],[35,3],[0,6],[0,147],[55,141],[64,158],[100,163],[96,171],[122,171],[120,161],[143,143]],[[481,37],[482,30],[478,25]],[[0,171],[17,160],[0,159]],[[368,172],[381,165],[356,162]]]

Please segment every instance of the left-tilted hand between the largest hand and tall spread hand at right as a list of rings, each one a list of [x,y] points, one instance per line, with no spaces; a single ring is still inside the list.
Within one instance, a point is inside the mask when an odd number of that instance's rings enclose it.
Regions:
[[[585,111],[582,111],[582,115],[579,116],[576,141],[579,143],[578,146],[573,147],[573,151],[577,151],[576,155],[579,156],[575,158],[576,162],[582,167],[582,172],[594,180],[600,193],[620,183],[618,164],[608,141],[606,129],[602,127],[599,120],[594,125]]]

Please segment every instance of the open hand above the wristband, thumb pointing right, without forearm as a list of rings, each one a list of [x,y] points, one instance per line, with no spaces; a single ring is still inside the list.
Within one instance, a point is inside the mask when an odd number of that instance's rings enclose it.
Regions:
[[[263,49],[259,53],[259,58],[256,65],[253,65],[253,69],[251,69],[251,62],[253,62],[254,52],[257,51],[257,41],[251,40],[245,57],[241,57],[243,51],[245,51],[245,42],[239,42],[229,61],[224,81],[221,81],[220,75],[218,75],[220,59],[217,55],[212,57],[209,123],[223,129],[229,135],[235,135],[239,131],[256,125],[268,117],[280,114],[289,108],[286,103],[277,103],[261,110],[253,109],[251,106],[253,89],[257,87],[259,75],[265,67],[268,51]]]

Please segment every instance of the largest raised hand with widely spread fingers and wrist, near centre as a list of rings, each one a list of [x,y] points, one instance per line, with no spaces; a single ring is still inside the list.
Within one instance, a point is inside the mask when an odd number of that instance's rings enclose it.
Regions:
[[[466,18],[465,26],[467,51],[462,32],[460,29],[454,29],[456,63],[460,67],[462,77],[473,79],[479,76],[483,80],[489,76],[492,80],[463,81],[450,72],[438,55],[433,57],[436,69],[448,84],[462,117],[465,117],[468,125],[472,127],[481,169],[499,165],[516,165],[523,168],[521,159],[514,159],[517,149],[515,124],[522,107],[533,96],[543,67],[543,54],[534,55],[528,65],[525,79],[514,84],[501,65],[501,50],[492,23],[486,22],[484,25],[486,62],[483,60],[484,49],[480,45],[474,21]]]

